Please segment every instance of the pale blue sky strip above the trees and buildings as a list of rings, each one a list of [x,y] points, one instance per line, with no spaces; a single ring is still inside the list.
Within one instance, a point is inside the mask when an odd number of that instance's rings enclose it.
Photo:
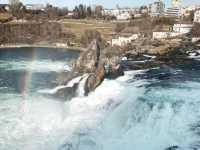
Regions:
[[[80,3],[86,5],[103,5],[105,8],[116,8],[117,4],[120,7],[137,7],[145,4],[152,3],[155,0],[21,0],[24,4],[46,4],[50,3],[59,7],[74,8],[75,5]],[[163,0],[167,7],[170,6],[171,0]],[[199,4],[200,0],[182,0],[183,5]],[[8,3],[8,0],[0,0],[0,3]]]

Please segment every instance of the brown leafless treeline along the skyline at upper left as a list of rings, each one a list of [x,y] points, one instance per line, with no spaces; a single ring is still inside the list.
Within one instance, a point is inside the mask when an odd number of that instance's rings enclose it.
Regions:
[[[5,6],[7,7],[7,6]],[[26,19],[26,20],[56,20],[65,17],[71,17],[74,19],[84,19],[84,18],[102,18],[102,6],[96,6],[92,8],[91,6],[86,6],[80,4],[75,6],[73,11],[69,11],[67,7],[59,8],[51,4],[46,4],[43,8],[27,8],[20,0],[9,0],[9,9],[7,12],[12,14],[16,19]],[[0,12],[5,12],[6,9],[0,9]],[[68,15],[70,13],[70,15]]]

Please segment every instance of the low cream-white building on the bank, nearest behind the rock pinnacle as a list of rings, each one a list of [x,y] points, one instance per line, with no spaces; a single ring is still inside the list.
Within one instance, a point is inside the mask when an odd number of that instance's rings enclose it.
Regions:
[[[111,45],[112,46],[126,46],[127,44],[131,43],[133,40],[136,40],[140,35],[133,34],[131,36],[119,36],[118,38],[112,39]]]

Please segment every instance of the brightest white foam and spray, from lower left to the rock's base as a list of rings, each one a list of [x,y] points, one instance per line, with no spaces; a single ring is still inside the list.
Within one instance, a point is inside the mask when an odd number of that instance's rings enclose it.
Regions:
[[[105,115],[126,98],[124,78],[105,80],[89,97],[66,103],[41,96],[23,101],[20,96],[2,95],[0,149],[56,150],[66,142],[74,147],[79,134],[96,130]],[[108,92],[110,85],[112,92]]]

